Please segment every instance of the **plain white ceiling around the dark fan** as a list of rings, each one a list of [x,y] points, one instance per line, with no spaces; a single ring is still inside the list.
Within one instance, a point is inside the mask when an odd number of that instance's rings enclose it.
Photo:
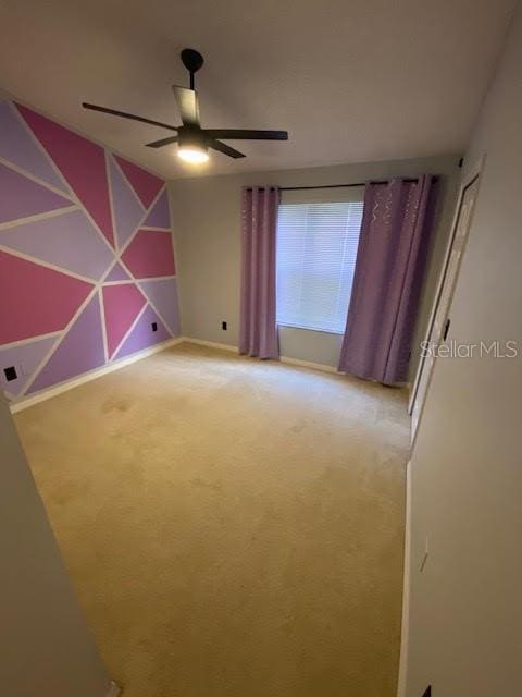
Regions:
[[[462,151],[514,0],[0,0],[0,87],[167,179]],[[195,170],[169,132],[173,83],[198,73],[203,126],[286,129]]]

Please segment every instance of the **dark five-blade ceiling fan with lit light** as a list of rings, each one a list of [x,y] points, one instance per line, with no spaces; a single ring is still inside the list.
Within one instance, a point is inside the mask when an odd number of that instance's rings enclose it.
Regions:
[[[90,105],[83,102],[82,106],[85,109],[91,109],[92,111],[101,111],[102,113],[110,113],[114,117],[122,117],[123,119],[130,119],[133,121],[140,121],[141,123],[149,123],[161,129],[167,129],[169,131],[175,131],[177,135],[161,138],[161,140],[154,140],[147,143],[149,148],[162,148],[165,145],[177,143],[178,156],[192,163],[206,162],[209,159],[208,150],[212,148],[223,155],[227,155],[234,159],[245,157],[243,152],[232,148],[229,145],[222,143],[224,140],[288,140],[287,131],[252,131],[249,129],[202,129],[199,119],[199,101],[198,93],[195,89],[194,75],[203,64],[203,57],[198,51],[186,48],[182,51],[182,62],[190,73],[190,87],[181,87],[179,85],[173,85],[172,89],[176,98],[177,108],[182,118],[181,126],[173,126],[169,123],[162,123],[161,121],[154,121],[153,119],[146,119],[145,117],[138,117],[134,113],[126,111],[117,111],[116,109],[108,109],[107,107],[98,107],[97,105]]]

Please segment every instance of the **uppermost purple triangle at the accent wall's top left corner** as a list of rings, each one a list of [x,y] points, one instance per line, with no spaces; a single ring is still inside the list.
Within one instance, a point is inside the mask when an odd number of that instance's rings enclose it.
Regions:
[[[67,185],[8,101],[0,102],[0,157],[69,194]]]

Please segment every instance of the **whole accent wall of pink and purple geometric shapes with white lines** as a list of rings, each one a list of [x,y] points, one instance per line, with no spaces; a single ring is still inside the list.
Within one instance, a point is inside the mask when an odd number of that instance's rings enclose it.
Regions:
[[[0,100],[0,386],[45,390],[179,334],[165,182]]]

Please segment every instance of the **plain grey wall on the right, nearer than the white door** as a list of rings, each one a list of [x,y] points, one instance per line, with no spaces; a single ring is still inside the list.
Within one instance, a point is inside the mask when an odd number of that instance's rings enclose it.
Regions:
[[[486,155],[450,316],[522,347],[522,14],[476,127]],[[522,358],[439,359],[411,461],[407,696],[522,690]],[[420,563],[428,538],[424,571]]]

